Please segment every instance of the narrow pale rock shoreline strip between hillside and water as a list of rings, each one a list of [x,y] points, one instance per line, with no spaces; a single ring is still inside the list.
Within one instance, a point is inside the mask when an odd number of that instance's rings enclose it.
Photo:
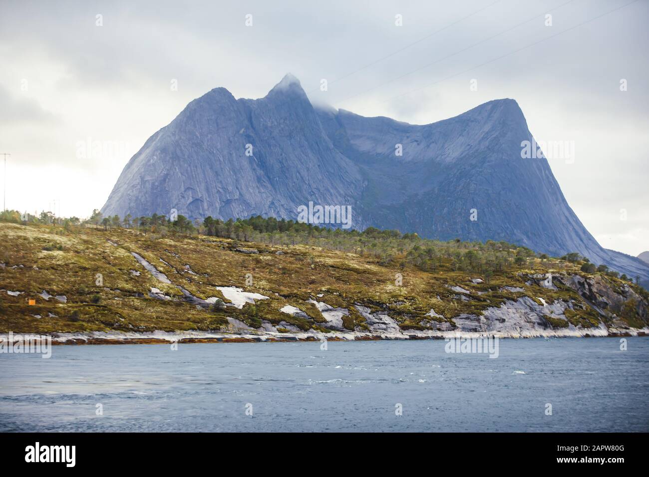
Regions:
[[[503,339],[570,338],[570,337],[635,337],[649,336],[649,328],[590,328],[573,330],[519,330],[487,332],[421,332],[376,334],[367,332],[300,332],[300,333],[227,333],[227,332],[89,332],[89,333],[13,333],[12,342],[21,337],[49,336],[52,345],[168,345],[171,343],[288,343],[300,341],[419,341],[421,339],[498,337]],[[0,341],[8,343],[9,334],[0,334]]]

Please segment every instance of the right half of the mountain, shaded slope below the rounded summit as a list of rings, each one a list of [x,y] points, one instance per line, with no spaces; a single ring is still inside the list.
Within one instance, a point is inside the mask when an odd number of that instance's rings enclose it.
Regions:
[[[361,203],[372,225],[443,240],[511,240],[555,255],[602,254],[547,160],[520,157],[532,135],[511,99],[425,126],[346,111],[320,116],[337,149],[363,172]]]

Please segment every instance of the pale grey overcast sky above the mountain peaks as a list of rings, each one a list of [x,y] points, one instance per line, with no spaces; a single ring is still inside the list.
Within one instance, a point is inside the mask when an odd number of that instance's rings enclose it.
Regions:
[[[217,86],[263,97],[291,72],[314,103],[416,124],[515,99],[537,140],[574,141],[574,162],[550,166],[584,225],[637,255],[649,249],[648,20],[645,0],[3,0],[6,207],[87,217],[189,101]]]

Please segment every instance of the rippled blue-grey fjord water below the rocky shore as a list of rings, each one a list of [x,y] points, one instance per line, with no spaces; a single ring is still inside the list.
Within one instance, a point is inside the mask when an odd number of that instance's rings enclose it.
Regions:
[[[0,431],[646,432],[649,338],[627,340],[501,339],[495,359],[443,340],[1,354]]]

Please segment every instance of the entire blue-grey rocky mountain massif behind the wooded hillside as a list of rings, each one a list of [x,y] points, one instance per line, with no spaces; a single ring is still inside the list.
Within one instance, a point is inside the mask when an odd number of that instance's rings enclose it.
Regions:
[[[314,108],[286,75],[261,99],[215,88],[191,101],[130,159],[101,212],[297,219],[309,202],[351,206],[355,228],[580,252],[649,282],[649,265],[597,243],[548,161],[521,158],[522,141],[533,137],[513,99],[410,125]]]

